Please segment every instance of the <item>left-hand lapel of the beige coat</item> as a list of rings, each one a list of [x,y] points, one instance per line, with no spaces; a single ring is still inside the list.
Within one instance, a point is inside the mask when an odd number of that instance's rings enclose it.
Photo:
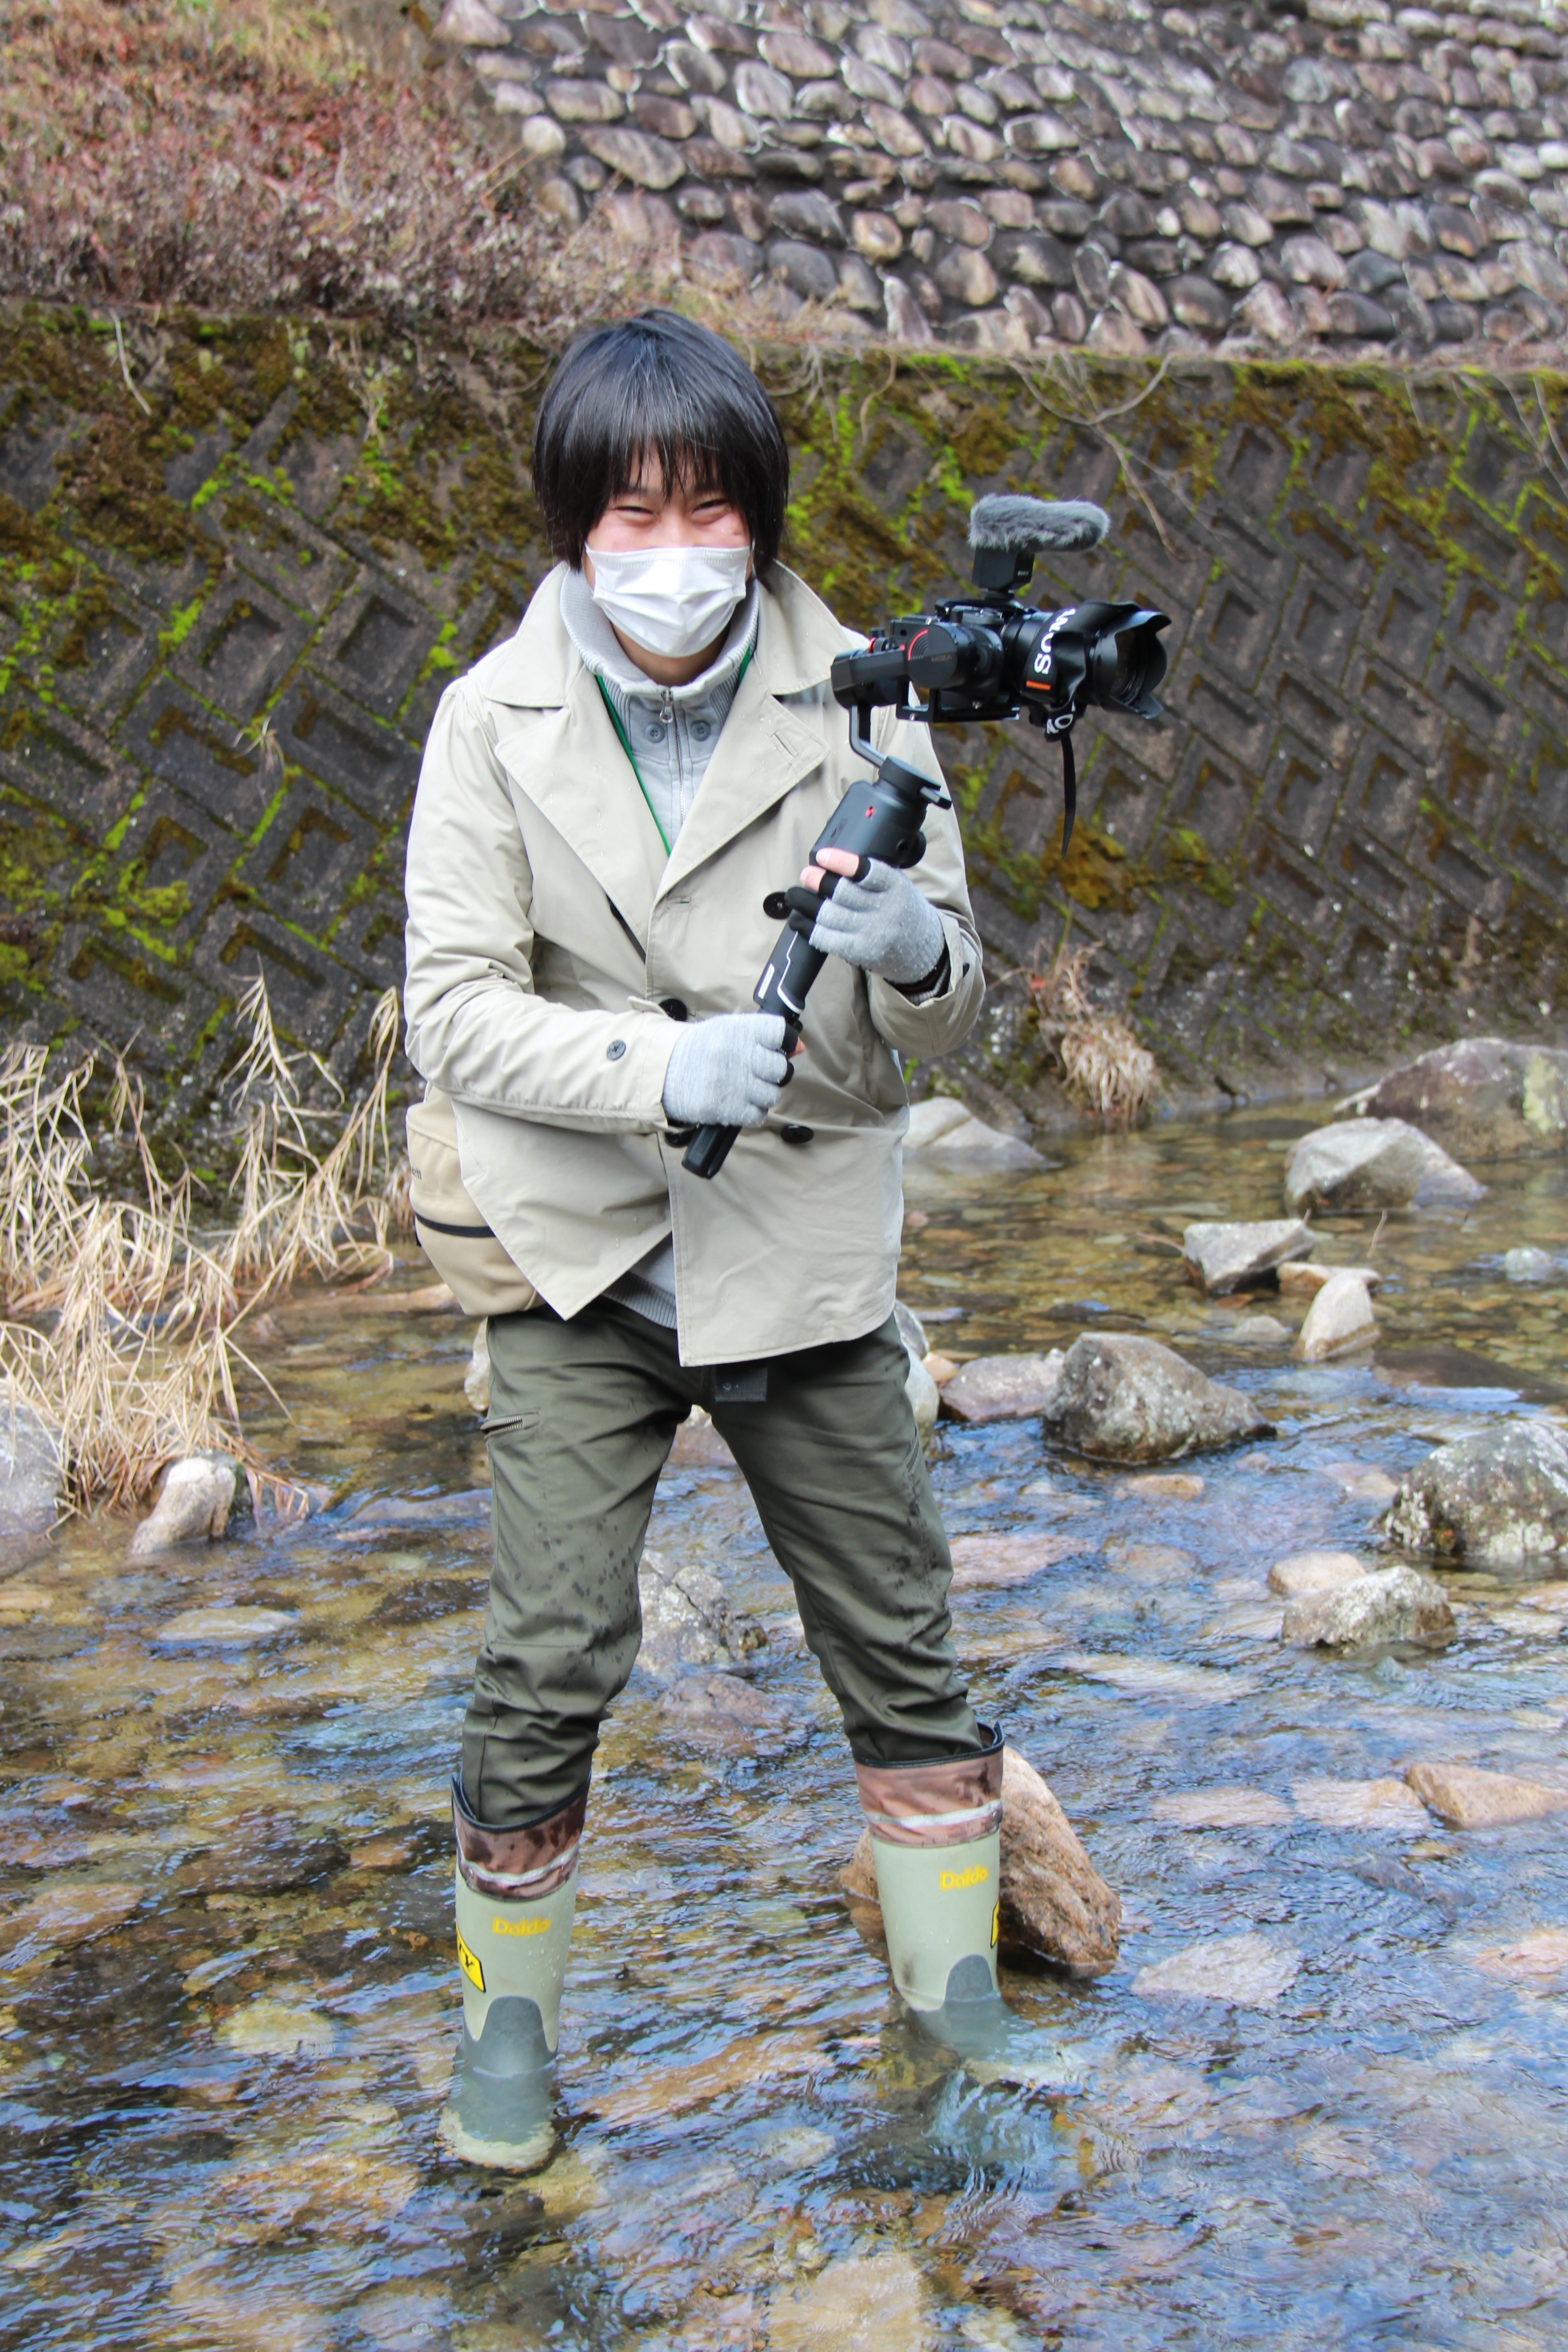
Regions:
[[[498,713],[496,755],[646,941],[665,844],[592,673],[578,663],[555,710]]]

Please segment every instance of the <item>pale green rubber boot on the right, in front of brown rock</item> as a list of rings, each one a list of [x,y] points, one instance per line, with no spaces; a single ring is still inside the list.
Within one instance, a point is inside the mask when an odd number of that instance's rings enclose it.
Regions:
[[[959,2056],[992,2056],[1011,2016],[997,1992],[1001,1731],[943,1764],[856,1764],[872,1832],[893,1985]]]

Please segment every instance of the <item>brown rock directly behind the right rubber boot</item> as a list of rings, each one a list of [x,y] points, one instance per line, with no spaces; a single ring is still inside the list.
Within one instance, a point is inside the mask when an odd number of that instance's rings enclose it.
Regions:
[[[872,1832],[844,1872],[844,1891],[877,1900]],[[1032,1764],[1006,1748],[1001,1757],[1001,1950],[1034,1952],[1072,1976],[1105,1976],[1117,1966],[1121,1898],[1084,1853],[1072,1823]]]

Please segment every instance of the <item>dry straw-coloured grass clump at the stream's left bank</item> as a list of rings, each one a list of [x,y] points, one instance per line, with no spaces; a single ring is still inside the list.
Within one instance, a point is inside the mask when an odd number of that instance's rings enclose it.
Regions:
[[[301,1275],[362,1287],[390,1270],[407,1190],[386,1120],[397,993],[374,1014],[369,1084],[331,1112],[303,1108],[301,1080],[324,1073],[284,1051],[261,981],[242,1016],[235,1216],[216,1230],[197,1225],[190,1178],[158,1169],[125,1068],[101,1122],[92,1063],[52,1077],[38,1047],[0,1061],[0,1390],[54,1432],[75,1510],[146,1501],[181,1454],[228,1451],[254,1472],[235,1371],[266,1381],[244,1317]],[[94,1124],[129,1129],[146,1200],[94,1190]]]

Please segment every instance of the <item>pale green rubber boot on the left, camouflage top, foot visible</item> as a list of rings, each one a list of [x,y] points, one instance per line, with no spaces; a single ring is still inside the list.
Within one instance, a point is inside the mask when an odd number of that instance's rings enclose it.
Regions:
[[[588,1783],[543,1820],[487,1830],[451,1783],[463,2042],[440,2133],[468,2164],[531,2173],[555,2147],[555,2044]]]

